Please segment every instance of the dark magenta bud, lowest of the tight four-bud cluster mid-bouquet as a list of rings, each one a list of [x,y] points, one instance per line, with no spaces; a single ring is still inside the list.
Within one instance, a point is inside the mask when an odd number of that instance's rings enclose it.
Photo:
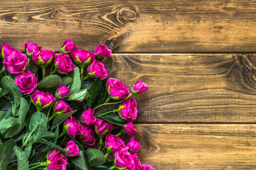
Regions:
[[[90,126],[83,125],[82,135],[80,135],[80,141],[87,145],[95,145],[95,130]]]

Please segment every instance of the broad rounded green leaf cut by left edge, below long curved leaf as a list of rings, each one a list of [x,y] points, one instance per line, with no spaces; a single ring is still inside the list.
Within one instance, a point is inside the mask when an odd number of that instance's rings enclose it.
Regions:
[[[20,124],[21,123],[18,120],[18,118],[3,118],[0,121],[0,132],[1,134],[3,134],[4,138],[12,137],[13,135],[16,135],[17,129],[20,126]]]

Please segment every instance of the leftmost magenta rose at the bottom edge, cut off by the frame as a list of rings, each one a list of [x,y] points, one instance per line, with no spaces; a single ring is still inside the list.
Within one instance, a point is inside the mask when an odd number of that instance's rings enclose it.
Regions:
[[[47,154],[48,170],[65,170],[67,169],[68,159],[61,155],[60,150],[52,149]]]

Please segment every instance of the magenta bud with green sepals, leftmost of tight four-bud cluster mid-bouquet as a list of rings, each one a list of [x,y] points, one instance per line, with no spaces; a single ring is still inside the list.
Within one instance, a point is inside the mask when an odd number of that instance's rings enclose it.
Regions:
[[[75,138],[75,135],[81,135],[82,130],[80,128],[80,122],[70,115],[70,119],[65,120],[63,125],[63,132],[67,132],[70,136]]]

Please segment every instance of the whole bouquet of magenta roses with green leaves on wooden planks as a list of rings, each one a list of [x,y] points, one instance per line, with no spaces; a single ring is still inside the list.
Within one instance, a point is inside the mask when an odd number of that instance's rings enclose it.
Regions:
[[[1,170],[154,169],[139,161],[134,137],[127,145],[119,137],[137,133],[133,96],[148,88],[107,78],[106,45],[92,52],[66,40],[58,55],[24,45],[24,53],[1,46]]]

